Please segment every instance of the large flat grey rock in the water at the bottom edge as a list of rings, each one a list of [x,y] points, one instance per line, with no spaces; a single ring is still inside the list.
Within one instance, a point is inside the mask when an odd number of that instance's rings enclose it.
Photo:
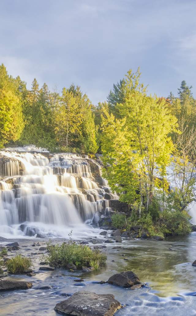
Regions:
[[[57,303],[55,310],[77,316],[112,316],[122,305],[112,294],[96,294],[87,291],[74,293],[67,300]]]

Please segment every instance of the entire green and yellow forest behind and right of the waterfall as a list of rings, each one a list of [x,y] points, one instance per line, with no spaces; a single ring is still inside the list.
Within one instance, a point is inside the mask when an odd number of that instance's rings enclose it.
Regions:
[[[149,95],[140,69],[128,70],[107,101],[93,105],[79,86],[50,91],[36,79],[31,90],[0,66],[0,148],[34,144],[52,152],[101,154],[103,176],[133,224],[151,235],[191,231],[188,205],[195,201],[196,100],[183,80],[175,96]]]

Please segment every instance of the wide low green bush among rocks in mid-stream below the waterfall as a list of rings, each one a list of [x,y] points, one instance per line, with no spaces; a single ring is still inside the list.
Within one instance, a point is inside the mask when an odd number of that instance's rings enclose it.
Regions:
[[[48,256],[43,257],[51,266],[66,267],[68,263],[75,264],[77,269],[83,266],[98,269],[106,262],[106,255],[93,251],[89,246],[77,245],[75,242],[62,243],[62,245],[47,245]]]

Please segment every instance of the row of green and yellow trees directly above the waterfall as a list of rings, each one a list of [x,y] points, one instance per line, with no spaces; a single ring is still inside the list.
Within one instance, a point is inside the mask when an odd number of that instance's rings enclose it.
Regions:
[[[0,147],[31,143],[51,151],[96,153],[98,138],[93,105],[80,87],[51,92],[34,79],[28,90],[0,66]]]

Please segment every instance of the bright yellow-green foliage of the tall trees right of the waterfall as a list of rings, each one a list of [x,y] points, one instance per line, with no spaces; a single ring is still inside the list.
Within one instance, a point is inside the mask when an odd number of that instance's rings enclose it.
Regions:
[[[169,133],[176,131],[176,118],[166,100],[147,96],[140,84],[140,70],[126,75],[126,98],[117,104],[120,119],[104,109],[102,115],[102,151],[104,176],[120,200],[148,211],[157,176],[164,179],[174,150]]]

